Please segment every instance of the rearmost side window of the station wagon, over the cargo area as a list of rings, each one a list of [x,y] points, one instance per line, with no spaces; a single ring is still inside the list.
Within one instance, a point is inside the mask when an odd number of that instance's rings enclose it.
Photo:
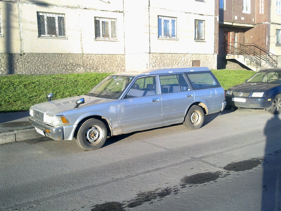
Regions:
[[[192,89],[208,89],[220,87],[220,83],[212,72],[185,73]]]

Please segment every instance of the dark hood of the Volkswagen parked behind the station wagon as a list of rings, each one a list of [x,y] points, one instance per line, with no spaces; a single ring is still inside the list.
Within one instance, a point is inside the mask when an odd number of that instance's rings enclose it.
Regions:
[[[272,89],[276,86],[280,86],[280,84],[245,82],[236,86],[232,86],[230,90],[236,92],[264,92],[265,90]]]

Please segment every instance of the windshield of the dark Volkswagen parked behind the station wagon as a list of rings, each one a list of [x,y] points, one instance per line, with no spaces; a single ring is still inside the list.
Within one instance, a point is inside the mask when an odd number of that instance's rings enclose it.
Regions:
[[[258,72],[254,74],[247,82],[281,84],[281,71]]]

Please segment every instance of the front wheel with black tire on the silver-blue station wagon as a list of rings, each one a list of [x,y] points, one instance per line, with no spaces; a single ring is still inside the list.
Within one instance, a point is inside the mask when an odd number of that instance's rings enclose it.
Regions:
[[[101,148],[107,139],[107,128],[97,119],[86,120],[77,132],[76,142],[82,149],[95,150]]]

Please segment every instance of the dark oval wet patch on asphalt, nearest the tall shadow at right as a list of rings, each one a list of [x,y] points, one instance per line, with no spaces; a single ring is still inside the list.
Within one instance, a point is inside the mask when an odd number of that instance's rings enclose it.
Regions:
[[[260,159],[249,159],[227,164],[223,169],[228,171],[246,171],[257,167],[259,164],[261,164]]]

